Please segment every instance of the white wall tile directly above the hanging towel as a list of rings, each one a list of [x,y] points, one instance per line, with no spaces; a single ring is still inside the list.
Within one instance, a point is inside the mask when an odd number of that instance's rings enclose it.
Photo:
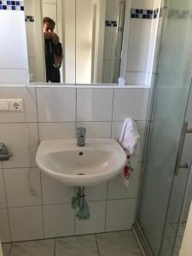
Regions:
[[[113,121],[124,121],[128,117],[140,121],[146,120],[148,94],[148,88],[115,89]]]

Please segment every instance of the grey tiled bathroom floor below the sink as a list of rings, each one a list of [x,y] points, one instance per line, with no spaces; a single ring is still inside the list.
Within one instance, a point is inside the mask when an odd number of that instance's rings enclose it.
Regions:
[[[142,256],[131,231],[3,244],[4,256]]]

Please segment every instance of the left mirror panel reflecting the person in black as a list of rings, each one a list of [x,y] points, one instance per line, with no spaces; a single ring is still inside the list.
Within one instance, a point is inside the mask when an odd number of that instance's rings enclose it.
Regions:
[[[75,83],[75,0],[25,0],[31,82]]]

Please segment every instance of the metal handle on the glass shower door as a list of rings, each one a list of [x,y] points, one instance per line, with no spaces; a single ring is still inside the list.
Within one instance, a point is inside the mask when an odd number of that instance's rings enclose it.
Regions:
[[[178,175],[179,169],[181,169],[181,168],[188,169],[189,168],[189,165],[187,163],[181,164],[183,145],[184,145],[184,140],[185,140],[185,136],[187,133],[192,133],[192,129],[188,129],[188,122],[184,122],[179,145],[178,145],[177,159],[176,159],[175,171],[174,171],[175,175]]]

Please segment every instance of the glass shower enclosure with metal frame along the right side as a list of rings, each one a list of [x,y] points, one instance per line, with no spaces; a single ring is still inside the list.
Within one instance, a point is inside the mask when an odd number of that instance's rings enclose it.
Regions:
[[[192,199],[192,2],[168,0],[165,4],[136,223],[148,255],[155,256],[178,255]]]

